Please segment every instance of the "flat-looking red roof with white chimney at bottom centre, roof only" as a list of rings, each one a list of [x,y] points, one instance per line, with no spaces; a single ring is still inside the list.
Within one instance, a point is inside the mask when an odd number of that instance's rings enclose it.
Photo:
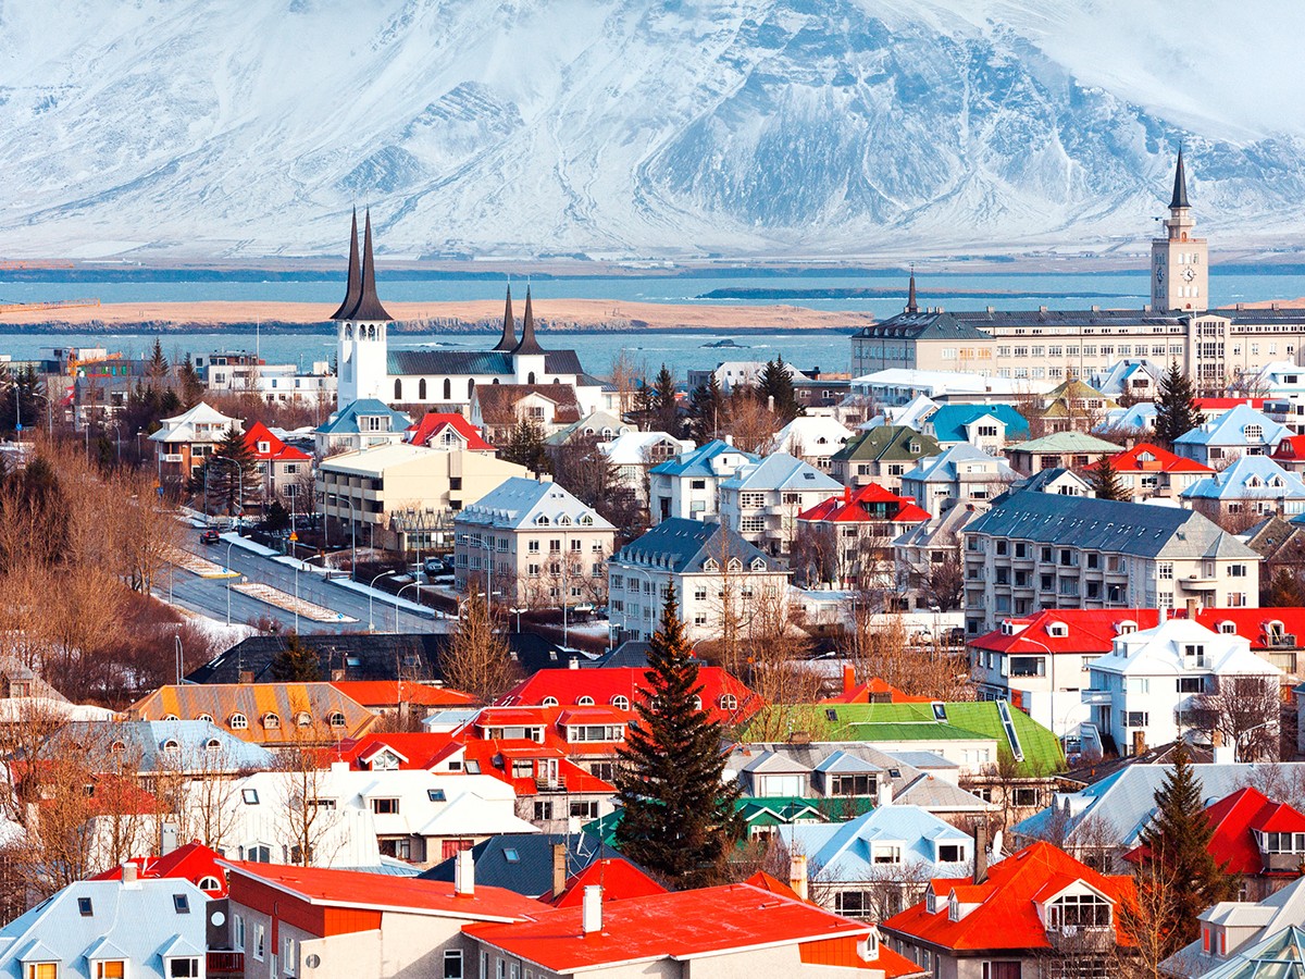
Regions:
[[[840,936],[859,939],[869,933],[870,925],[750,884],[731,884],[613,901],[603,906],[602,932],[592,935],[582,928],[579,907],[536,914],[530,922],[470,925],[463,931],[549,972],[568,974],[621,963],[685,962]]]

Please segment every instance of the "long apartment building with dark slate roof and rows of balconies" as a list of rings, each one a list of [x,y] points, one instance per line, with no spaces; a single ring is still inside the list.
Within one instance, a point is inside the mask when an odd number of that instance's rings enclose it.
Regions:
[[[1190,510],[1015,492],[964,530],[966,629],[1037,608],[1244,607],[1259,555]]]

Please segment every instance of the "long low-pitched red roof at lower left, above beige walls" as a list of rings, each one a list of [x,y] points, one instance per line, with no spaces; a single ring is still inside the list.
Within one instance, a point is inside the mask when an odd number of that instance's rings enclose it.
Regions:
[[[224,862],[231,872],[231,898],[247,903],[247,884],[262,885],[315,906],[360,911],[398,911],[432,918],[513,922],[538,914],[540,905],[505,888],[475,885],[457,894],[452,882],[423,877],[394,877],[358,871]],[[258,905],[254,905],[257,907]],[[378,927],[378,922],[375,925]]]

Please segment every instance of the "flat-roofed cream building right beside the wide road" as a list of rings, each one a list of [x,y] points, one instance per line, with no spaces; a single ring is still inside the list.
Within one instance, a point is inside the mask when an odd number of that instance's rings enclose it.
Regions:
[[[483,452],[442,452],[398,443],[322,459],[317,467],[321,513],[361,539],[415,551],[448,544],[453,516],[523,466]]]

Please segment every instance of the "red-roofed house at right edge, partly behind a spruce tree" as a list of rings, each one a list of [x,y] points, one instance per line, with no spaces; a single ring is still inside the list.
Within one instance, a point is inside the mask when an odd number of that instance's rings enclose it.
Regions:
[[[1214,830],[1210,854],[1227,867],[1228,873],[1241,875],[1248,884],[1261,878],[1248,899],[1258,901],[1278,890],[1288,880],[1301,876],[1305,854],[1295,846],[1296,834],[1305,834],[1305,815],[1287,803],[1275,803],[1258,788],[1248,786],[1224,796],[1206,808]],[[1147,847],[1139,846],[1124,855],[1139,863]],[[1267,878],[1267,880],[1266,880]]]

